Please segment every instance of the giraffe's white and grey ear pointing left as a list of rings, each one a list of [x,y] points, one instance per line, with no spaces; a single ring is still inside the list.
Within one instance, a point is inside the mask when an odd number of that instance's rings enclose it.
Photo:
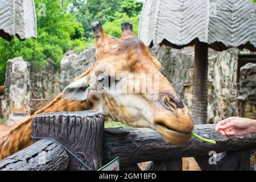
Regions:
[[[82,77],[79,80],[68,85],[63,93],[62,98],[64,100],[76,100],[85,101],[90,92],[88,76]]]

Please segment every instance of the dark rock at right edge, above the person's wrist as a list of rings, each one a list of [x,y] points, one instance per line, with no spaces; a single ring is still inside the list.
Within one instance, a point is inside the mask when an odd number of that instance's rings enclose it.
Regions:
[[[256,119],[256,64],[241,67],[238,113],[241,117]]]

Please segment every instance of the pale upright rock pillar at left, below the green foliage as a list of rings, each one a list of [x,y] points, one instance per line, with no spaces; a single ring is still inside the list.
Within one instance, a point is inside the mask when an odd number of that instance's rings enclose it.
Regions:
[[[7,61],[6,92],[2,100],[2,114],[7,119],[7,125],[23,121],[30,115],[30,64],[22,57],[15,57]]]

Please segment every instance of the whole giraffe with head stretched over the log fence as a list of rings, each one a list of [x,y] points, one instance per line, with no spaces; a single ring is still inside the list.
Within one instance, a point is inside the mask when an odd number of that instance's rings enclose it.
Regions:
[[[156,130],[172,144],[188,142],[193,129],[191,115],[174,87],[160,72],[159,61],[134,36],[132,24],[121,24],[122,36],[119,39],[107,36],[100,22],[94,22],[91,28],[96,62],[35,114],[92,109],[126,125]],[[152,75],[153,78],[145,86],[144,82],[137,81],[141,75]],[[148,92],[151,90],[148,85],[155,86],[157,92]],[[129,92],[130,88],[132,92]],[[143,89],[146,92],[142,92]],[[33,117],[0,139],[0,159],[31,144]]]

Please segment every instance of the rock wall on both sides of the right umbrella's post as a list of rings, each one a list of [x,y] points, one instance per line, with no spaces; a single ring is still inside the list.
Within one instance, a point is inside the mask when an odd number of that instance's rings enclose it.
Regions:
[[[193,47],[174,49],[166,46],[153,46],[152,55],[162,63],[162,72],[190,109],[193,90]],[[236,110],[236,68],[238,51],[235,48],[218,52],[209,49],[208,53],[208,123],[216,123]]]

